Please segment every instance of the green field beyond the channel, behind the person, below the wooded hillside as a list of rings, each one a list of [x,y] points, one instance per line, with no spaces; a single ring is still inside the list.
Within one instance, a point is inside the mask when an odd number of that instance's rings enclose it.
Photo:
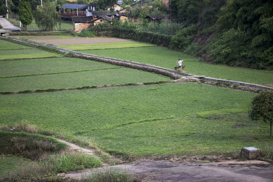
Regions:
[[[185,72],[204,75],[212,78],[242,81],[248,83],[262,84],[273,87],[273,72],[255,70],[240,67],[229,67],[224,65],[213,65],[200,61],[197,57],[185,55],[180,52],[163,47],[146,48],[123,48],[80,51],[82,53],[117,58],[122,60],[140,62],[163,68],[174,69],[178,59],[184,59]]]

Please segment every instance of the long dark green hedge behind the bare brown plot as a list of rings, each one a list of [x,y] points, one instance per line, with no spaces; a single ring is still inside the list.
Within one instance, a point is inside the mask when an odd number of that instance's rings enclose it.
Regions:
[[[124,29],[118,27],[99,27],[94,26],[91,30],[97,36],[111,36],[118,38],[130,38],[141,42],[152,43],[167,47],[170,44],[172,36],[159,33],[145,32],[133,29]]]

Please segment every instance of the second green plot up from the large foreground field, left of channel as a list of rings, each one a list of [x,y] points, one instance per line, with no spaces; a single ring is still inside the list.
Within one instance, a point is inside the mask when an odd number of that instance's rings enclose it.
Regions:
[[[27,59],[0,62],[0,78],[118,68],[117,66],[77,58]]]

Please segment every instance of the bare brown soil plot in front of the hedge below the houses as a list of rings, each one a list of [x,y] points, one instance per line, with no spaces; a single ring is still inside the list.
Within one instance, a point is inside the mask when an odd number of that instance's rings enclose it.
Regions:
[[[30,36],[30,37],[23,37],[23,38],[27,38],[28,40],[39,42],[39,43],[53,44],[53,45],[77,45],[77,44],[117,43],[117,42],[133,41],[130,39],[122,39],[122,38],[114,38],[114,37],[59,38],[56,36]]]

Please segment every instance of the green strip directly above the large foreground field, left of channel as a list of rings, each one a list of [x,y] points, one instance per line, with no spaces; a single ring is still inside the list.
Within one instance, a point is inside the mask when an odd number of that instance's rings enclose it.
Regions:
[[[20,92],[36,89],[68,89],[83,86],[117,85],[169,81],[168,77],[129,69],[84,70],[70,73],[0,78],[0,92]]]

